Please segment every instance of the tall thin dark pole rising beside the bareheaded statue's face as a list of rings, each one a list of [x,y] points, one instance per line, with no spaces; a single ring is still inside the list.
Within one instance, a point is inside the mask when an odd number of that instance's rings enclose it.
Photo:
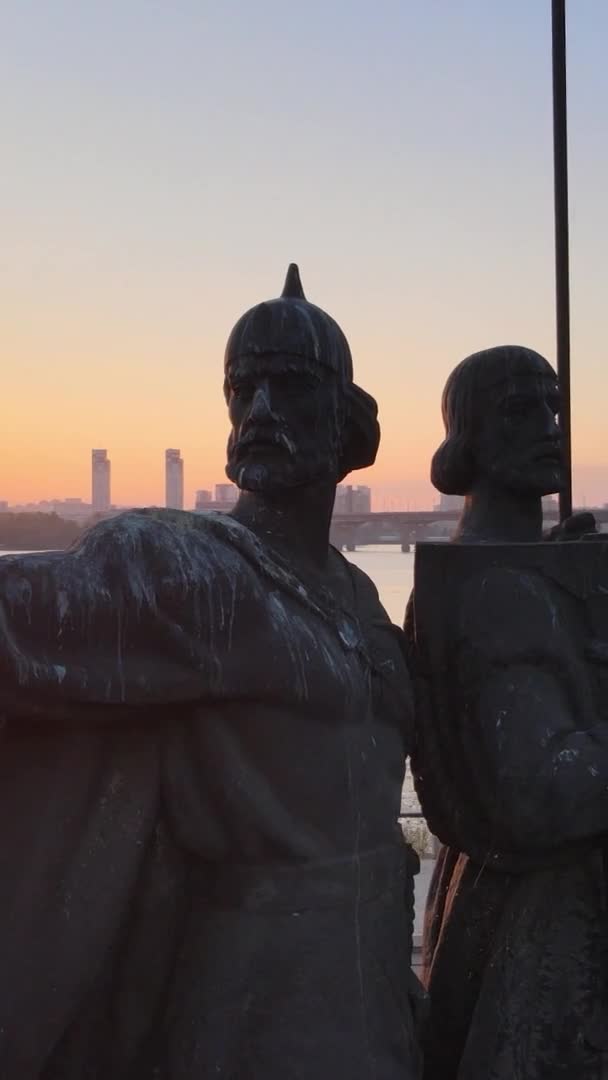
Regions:
[[[557,378],[562,392],[560,426],[566,482],[559,517],[572,513],[570,422],[570,284],[568,256],[568,127],[566,110],[566,0],[552,0],[553,31],[553,178],[555,190],[555,314]]]

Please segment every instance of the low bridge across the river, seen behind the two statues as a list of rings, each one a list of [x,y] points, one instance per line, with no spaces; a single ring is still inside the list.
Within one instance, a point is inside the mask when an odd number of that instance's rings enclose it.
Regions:
[[[608,508],[585,507],[599,526],[608,526]],[[454,510],[377,511],[370,514],[335,514],[332,543],[339,551],[356,551],[364,544],[401,544],[409,551],[420,540],[447,540],[460,516]],[[557,523],[557,508],[544,515],[545,528]]]

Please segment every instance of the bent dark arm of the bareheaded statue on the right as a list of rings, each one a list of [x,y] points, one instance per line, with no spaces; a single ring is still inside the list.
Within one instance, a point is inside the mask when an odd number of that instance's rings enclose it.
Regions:
[[[460,719],[497,842],[529,849],[608,831],[608,728],[538,583],[490,575],[460,643]]]

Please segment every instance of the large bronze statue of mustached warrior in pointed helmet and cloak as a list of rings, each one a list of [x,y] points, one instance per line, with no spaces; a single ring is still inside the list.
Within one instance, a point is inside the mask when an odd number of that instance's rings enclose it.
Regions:
[[[402,632],[329,548],[376,404],[292,266],[226,350],[231,514],[0,561],[3,1080],[408,1080]]]

